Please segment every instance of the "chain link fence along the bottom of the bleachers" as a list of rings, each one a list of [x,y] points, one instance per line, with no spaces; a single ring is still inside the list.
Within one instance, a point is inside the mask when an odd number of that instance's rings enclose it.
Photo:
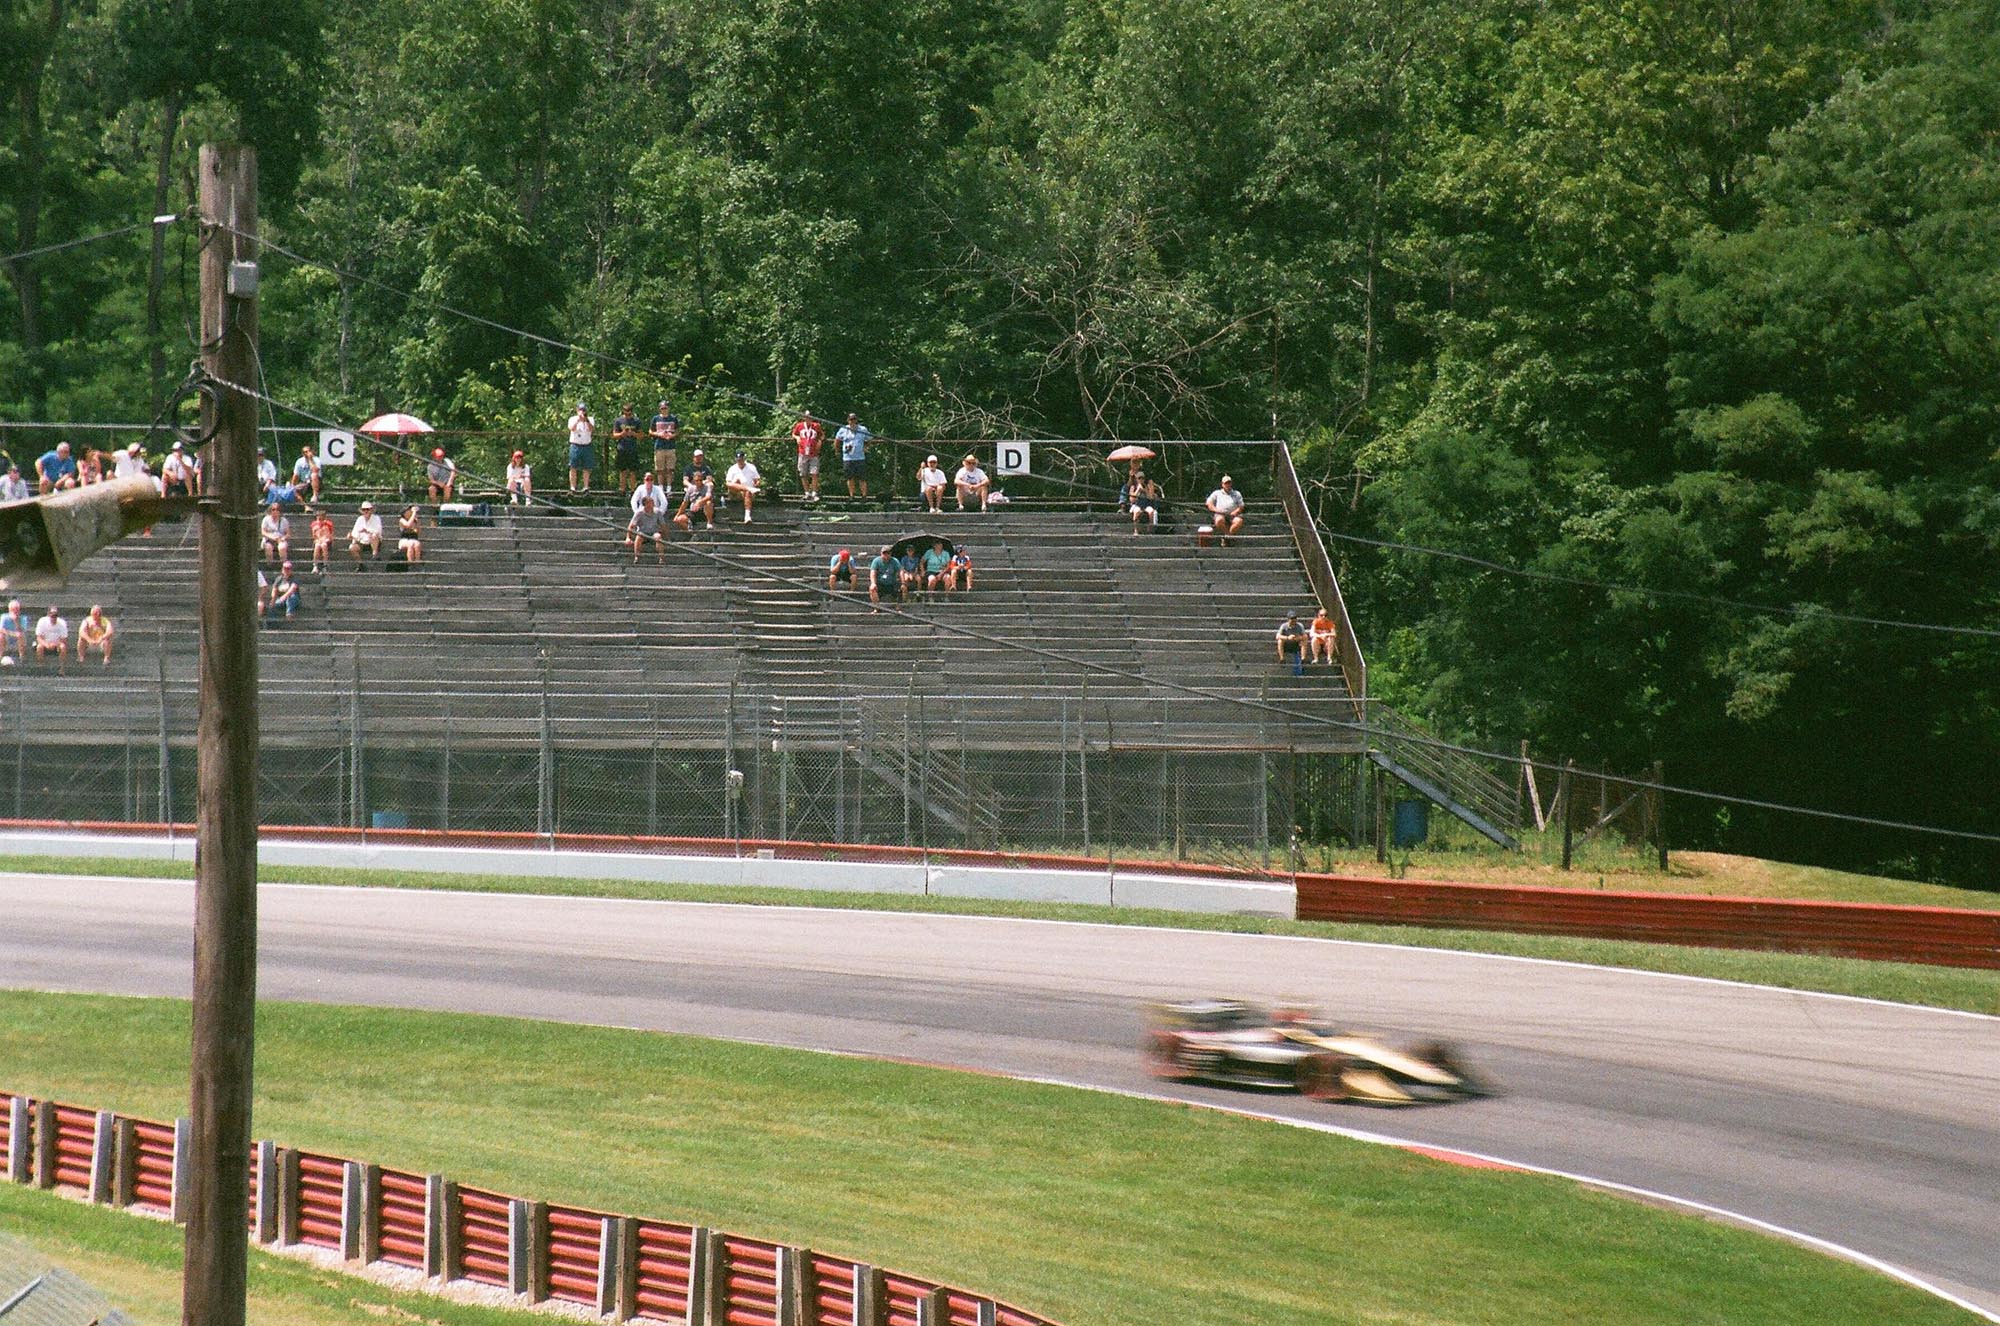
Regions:
[[[88,712],[70,694],[0,680],[0,816],[192,822],[192,678],[126,678]],[[1060,852],[1282,874],[1300,854],[1310,864],[1314,844],[1364,840],[1372,820],[1352,752],[1308,748],[1282,718],[1246,720],[1256,710],[1190,722],[1180,700],[1062,700],[1018,716],[916,690],[774,700],[334,676],[258,704],[258,810],[272,826],[592,834],[632,850],[708,838]]]

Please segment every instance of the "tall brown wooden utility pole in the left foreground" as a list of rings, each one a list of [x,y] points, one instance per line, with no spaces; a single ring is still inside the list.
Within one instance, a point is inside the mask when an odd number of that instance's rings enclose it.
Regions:
[[[256,150],[200,162],[202,368],[256,376]],[[230,230],[222,230],[228,226]],[[240,232],[240,234],[236,234]],[[184,1326],[242,1326],[250,1228],[250,1070],[256,1036],[256,420],[216,386],[200,508],[202,714],[194,870],[194,1056],[188,1118]]]

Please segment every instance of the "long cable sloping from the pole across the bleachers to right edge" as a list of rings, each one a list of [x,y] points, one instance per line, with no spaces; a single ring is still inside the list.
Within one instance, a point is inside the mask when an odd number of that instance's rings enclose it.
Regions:
[[[210,376],[208,380],[214,382],[216,386],[224,388],[224,390],[242,392],[242,394],[246,394],[246,396],[250,396],[254,400],[264,400],[266,404],[270,404],[270,406],[274,406],[278,410],[286,410],[288,414],[298,414],[300,418],[308,418],[308,420],[320,424],[322,428],[340,428],[342,426],[336,420],[330,420],[326,416],[314,414],[312,410],[306,410],[302,406],[294,406],[294,404],[276,400],[272,396],[266,396],[264,392],[258,392],[258,390],[248,388],[248,386],[242,386],[238,382],[228,382],[224,378],[214,378],[214,376]],[[396,442],[384,442],[380,436],[374,436],[374,434],[360,434],[360,436],[366,436],[376,446],[382,446],[384,450],[390,450],[390,452],[394,452],[398,456],[406,456],[406,458],[418,460],[418,462],[424,460],[422,452],[418,452],[418,450],[414,450],[410,446],[402,446],[402,444],[396,444]],[[490,474],[470,472],[470,476],[478,478],[478,480],[484,480],[488,484],[496,482],[494,476],[490,476]],[[530,502],[534,502],[538,506],[556,508],[556,502],[552,502],[548,498],[530,498]],[[620,536],[626,532],[626,526],[618,524],[616,520],[602,518],[602,516],[598,516],[594,512],[584,512],[580,508],[560,508],[560,510],[564,510],[570,516],[588,520],[592,524],[600,524],[604,528],[610,528],[610,530],[614,530]],[[790,576],[784,576],[782,572],[774,572],[774,570],[768,570],[764,566],[754,566],[750,562],[740,562],[740,560],[724,556],[720,552],[712,552],[712,550],[706,550],[706,548],[696,548],[694,544],[670,544],[670,548],[674,548],[678,552],[684,552],[684,554],[690,554],[690,556],[696,556],[696,558],[702,558],[702,560],[706,560],[712,566],[724,566],[724,568],[734,570],[738,574],[754,576],[758,580],[770,580],[770,582],[782,584],[786,588],[806,590],[810,594],[816,594],[816,596],[832,600],[832,602],[852,602],[852,604],[866,602],[864,598],[860,598],[858,594],[852,594],[852,592],[844,594],[840,590],[828,590],[826,586],[822,586],[818,582],[818,578],[792,580]],[[1060,664],[1064,664],[1068,668],[1078,668],[1078,670],[1084,670],[1084,672],[1096,672],[1096,674],[1102,674],[1102,676],[1116,676],[1120,680],[1140,682],[1142,686],[1154,686],[1154,688],[1160,688],[1160,690],[1172,690],[1172,692],[1178,692],[1178,694],[1184,694],[1184,696],[1192,696],[1192,698],[1198,698],[1198,700],[1210,700],[1210,702],[1216,702],[1216,704],[1232,704],[1232,706],[1248,708],[1248,710],[1262,712],[1262,714],[1274,714],[1278,718],[1284,718],[1286,722],[1296,722],[1296,724],[1306,724],[1306,726],[1322,726],[1322,728],[1336,728],[1336,730],[1346,730],[1346,732],[1360,732],[1364,738],[1370,732],[1378,732],[1378,728],[1372,728],[1366,722],[1350,722],[1350,720],[1342,720],[1342,718],[1326,718],[1324,714],[1300,714],[1300,712],[1288,710],[1288,708],[1284,708],[1280,704],[1272,704],[1270,700],[1248,700],[1244,696],[1230,696],[1230,694],[1224,694],[1224,692],[1208,690],[1204,686],[1190,686],[1186,682],[1174,682],[1174,680],[1168,680],[1168,678],[1154,678],[1154,676],[1146,676],[1144,672],[1132,672],[1130,668],[1118,668],[1114,664],[1104,664],[1104,662],[1096,662],[1096,660],[1088,660],[1088,658],[1076,658],[1076,656],[1064,654],[1060,650],[1048,650],[1048,648],[1042,648],[1042,646],[1036,646],[1036,644],[1024,644],[1020,640],[1008,640],[1004,636],[994,636],[994,634],[988,634],[988,632],[982,632],[982,630],[972,630],[970,626],[956,626],[952,622],[944,622],[944,620],[938,620],[938,618],[928,618],[928,616],[910,612],[910,610],[894,606],[894,604],[882,604],[882,612],[888,612],[892,616],[900,616],[900,618],[904,618],[908,622],[930,626],[932,630],[942,630],[942,632],[952,634],[952,636],[962,636],[966,640],[978,640],[980,644],[992,644],[992,646],[1006,648],[1006,650],[1016,650],[1016,652],[1022,652],[1022,654],[1034,654],[1034,656],[1050,660],[1050,662],[1060,662]],[[1362,702],[1362,704],[1366,704],[1366,702]],[[1526,764],[1530,768],[1546,770],[1546,772],[1552,772],[1552,774],[1560,774],[1562,772],[1560,764],[1552,764],[1548,760],[1524,760],[1518,754],[1500,754],[1500,752],[1492,752],[1492,750],[1480,750],[1476,746],[1462,746],[1458,742],[1446,742],[1446,740],[1436,738],[1436,736],[1406,734],[1400,740],[1404,740],[1404,742],[1408,742],[1412,746],[1424,746],[1424,748],[1430,748],[1430,750],[1444,750],[1444,752],[1452,752],[1452,754],[1472,756],[1472,758],[1488,760],[1488,762],[1494,762],[1494,764],[1500,764],[1500,766],[1522,766],[1522,764]],[[1778,812],[1778,814],[1798,814],[1798,816],[1810,816],[1810,818],[1818,818],[1818,820],[1834,820],[1834,822],[1842,822],[1842,824],[1862,824],[1862,826],[1868,826],[1868,828],[1890,828],[1890,830],[1900,830],[1900,832],[1930,834],[1930,836],[1938,836],[1938,838],[1960,838],[1960,840],[1968,840],[1968,842],[1996,842],[1996,844],[2000,844],[2000,834],[1986,834],[1986,832],[1978,832],[1978,830],[1944,828],[1944,826],[1938,826],[1938,824],[1912,824],[1912,822],[1906,822],[1906,820],[1882,820],[1882,818],[1876,818],[1876,816],[1848,814],[1848,812],[1842,812],[1842,810],[1818,810],[1814,806],[1788,806],[1784,802],[1770,802],[1770,800],[1762,800],[1762,798],[1754,798],[1754,796],[1734,796],[1730,792],[1708,792],[1704,788],[1682,788],[1682,786],[1674,786],[1674,784],[1668,784],[1668,782],[1652,782],[1648,778],[1618,778],[1616,782],[1620,782],[1624,786],[1630,786],[1630,788],[1648,788],[1648,790],[1656,790],[1656,792],[1670,794],[1670,796],[1688,796],[1688,798],[1718,802],[1718,804],[1726,804],[1726,806],[1744,806],[1744,808],[1750,808],[1750,810],[1772,810],[1772,812]]]

